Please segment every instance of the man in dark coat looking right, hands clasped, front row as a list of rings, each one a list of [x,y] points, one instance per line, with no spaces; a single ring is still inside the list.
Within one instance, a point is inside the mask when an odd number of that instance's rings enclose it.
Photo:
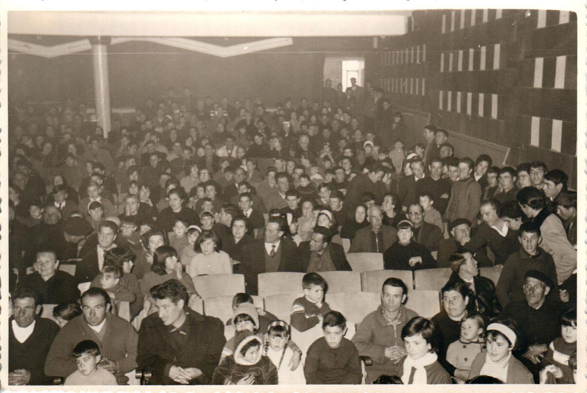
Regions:
[[[139,369],[151,371],[150,385],[210,384],[226,343],[222,322],[190,310],[187,291],[177,280],[150,293],[158,312],[141,324]]]

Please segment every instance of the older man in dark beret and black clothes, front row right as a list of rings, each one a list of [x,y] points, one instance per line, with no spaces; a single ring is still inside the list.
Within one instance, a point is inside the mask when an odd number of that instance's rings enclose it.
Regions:
[[[510,302],[502,314],[518,324],[520,345],[517,357],[532,372],[535,381],[538,381],[541,360],[548,344],[561,335],[561,315],[572,307],[562,303],[558,293],[551,293],[554,288],[555,284],[545,273],[528,270],[524,274],[525,300]]]

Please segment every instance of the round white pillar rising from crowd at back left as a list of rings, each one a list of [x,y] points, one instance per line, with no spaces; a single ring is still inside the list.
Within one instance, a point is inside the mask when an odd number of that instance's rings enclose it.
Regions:
[[[110,82],[108,78],[109,37],[90,38],[94,66],[94,90],[96,99],[97,124],[104,130],[104,137],[110,132]]]

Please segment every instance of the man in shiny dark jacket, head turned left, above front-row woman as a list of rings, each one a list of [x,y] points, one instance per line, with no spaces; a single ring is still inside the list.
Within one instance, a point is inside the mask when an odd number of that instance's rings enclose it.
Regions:
[[[501,307],[495,294],[495,284],[489,278],[479,276],[477,261],[473,254],[462,251],[453,254],[449,261],[453,274],[448,281],[460,281],[469,288],[470,300],[467,310],[477,311],[487,318],[499,313]]]

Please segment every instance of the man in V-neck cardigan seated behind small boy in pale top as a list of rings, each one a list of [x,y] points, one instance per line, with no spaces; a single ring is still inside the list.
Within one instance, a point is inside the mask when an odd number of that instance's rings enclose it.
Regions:
[[[82,315],[70,320],[51,345],[45,361],[45,374],[67,377],[77,370],[73,348],[83,340],[100,346],[102,361],[98,367],[114,374],[118,384],[126,384],[124,375],[137,367],[139,335],[133,326],[110,311],[110,297],[102,288],[90,288],[82,295]]]

